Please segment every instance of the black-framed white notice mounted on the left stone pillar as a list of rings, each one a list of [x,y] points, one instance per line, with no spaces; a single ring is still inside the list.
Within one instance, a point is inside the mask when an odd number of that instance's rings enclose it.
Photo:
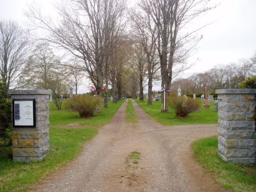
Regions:
[[[12,99],[12,126],[36,127],[35,99]]]

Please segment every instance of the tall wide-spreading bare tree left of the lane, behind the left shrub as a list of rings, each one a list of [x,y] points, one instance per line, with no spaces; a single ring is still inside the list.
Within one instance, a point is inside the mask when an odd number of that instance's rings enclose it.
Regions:
[[[95,86],[106,84],[105,108],[108,108],[109,65],[112,48],[124,27],[125,0],[73,0],[62,3],[62,17],[56,25],[31,6],[27,16],[36,27],[50,33],[47,40],[84,61],[84,70]]]

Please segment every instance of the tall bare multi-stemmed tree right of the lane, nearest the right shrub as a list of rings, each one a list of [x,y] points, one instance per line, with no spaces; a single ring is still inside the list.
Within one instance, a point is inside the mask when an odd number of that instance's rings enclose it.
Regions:
[[[207,2],[206,0],[140,1],[140,8],[157,26],[156,44],[161,66],[162,87],[170,87],[176,64],[179,65],[176,74],[186,69],[181,63],[185,63],[189,51],[195,47],[201,37],[196,38],[194,35],[198,29],[185,34],[182,34],[182,29],[191,20],[209,10],[206,7]]]

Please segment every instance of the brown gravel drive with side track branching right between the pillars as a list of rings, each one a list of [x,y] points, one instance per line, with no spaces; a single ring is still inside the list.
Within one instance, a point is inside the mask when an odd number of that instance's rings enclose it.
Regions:
[[[127,101],[67,167],[31,191],[225,191],[192,157],[190,143],[217,125],[162,126],[133,101],[138,123],[125,122]],[[139,152],[138,164],[127,158]]]

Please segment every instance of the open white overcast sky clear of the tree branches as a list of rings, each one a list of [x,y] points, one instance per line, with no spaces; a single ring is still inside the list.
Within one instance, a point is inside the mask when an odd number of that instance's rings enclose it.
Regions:
[[[32,1],[0,0],[0,18],[24,21],[23,12],[26,10],[26,4]],[[35,2],[41,2],[47,14],[54,12],[51,5],[55,0],[35,0]],[[189,60],[194,61],[195,58],[200,60],[187,70],[183,77],[205,72],[215,65],[228,65],[241,58],[250,58],[256,52],[256,0],[212,0],[212,2],[221,2],[221,5],[195,21],[197,24],[214,22],[198,32],[199,35],[203,35],[203,39],[198,45],[197,53]]]

